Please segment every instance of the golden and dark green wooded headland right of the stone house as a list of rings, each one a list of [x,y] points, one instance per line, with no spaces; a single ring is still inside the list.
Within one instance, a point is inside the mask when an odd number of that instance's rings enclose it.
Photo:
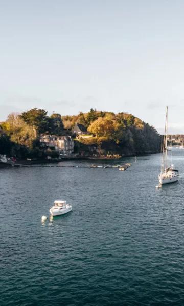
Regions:
[[[73,116],[67,116],[66,119],[73,124]],[[91,109],[87,114],[80,112],[77,120],[95,135],[79,140],[84,150],[85,146],[90,146],[89,151],[91,147],[96,147],[100,155],[145,154],[160,150],[160,136],[155,128],[131,114]]]

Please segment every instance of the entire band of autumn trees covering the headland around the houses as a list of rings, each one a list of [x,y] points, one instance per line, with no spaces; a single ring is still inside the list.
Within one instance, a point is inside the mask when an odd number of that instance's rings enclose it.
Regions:
[[[25,156],[30,151],[41,156],[40,134],[63,135],[75,123],[83,124],[93,135],[76,140],[78,152],[101,154],[142,154],[160,148],[160,136],[153,126],[127,113],[114,114],[90,109],[74,116],[31,109],[21,114],[12,113],[0,126],[0,154]]]

